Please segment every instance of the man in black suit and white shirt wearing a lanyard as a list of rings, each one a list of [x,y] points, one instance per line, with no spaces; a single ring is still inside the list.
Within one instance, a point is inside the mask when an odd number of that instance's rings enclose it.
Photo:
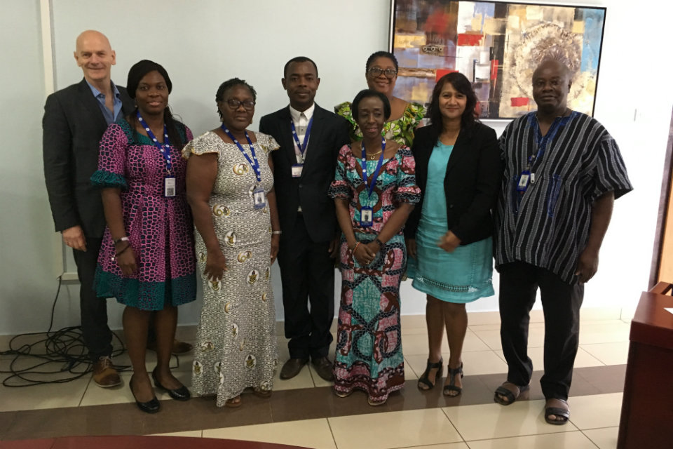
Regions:
[[[334,180],[339,149],[350,142],[348,122],[313,101],[320,85],[315,62],[303,56],[292,58],[283,76],[290,106],[259,122],[259,130],[280,144],[273,152],[274,188],[283,232],[278,264],[285,337],[290,339],[290,360],[280,370],[280,378],[296,376],[311,358],[318,375],[332,380],[327,354],[332,342],[329,328],[334,319],[339,227],[327,189]]]

